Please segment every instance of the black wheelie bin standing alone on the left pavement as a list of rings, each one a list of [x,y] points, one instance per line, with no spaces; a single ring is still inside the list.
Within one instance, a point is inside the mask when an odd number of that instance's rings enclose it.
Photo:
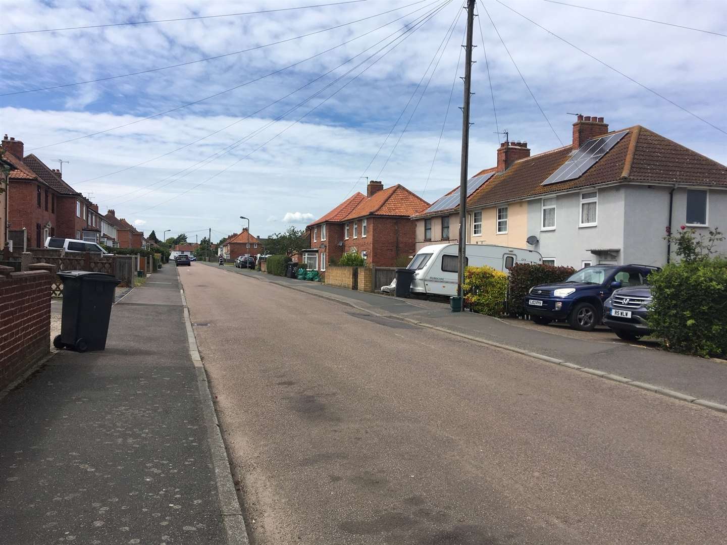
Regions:
[[[121,280],[87,270],[61,271],[58,276],[63,280],[63,313],[53,346],[78,352],[104,350],[115,288]]]

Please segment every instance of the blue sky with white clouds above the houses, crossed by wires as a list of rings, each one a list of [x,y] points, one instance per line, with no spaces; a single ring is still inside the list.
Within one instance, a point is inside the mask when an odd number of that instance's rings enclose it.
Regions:
[[[438,5],[429,5],[430,1],[410,5],[414,1],[369,0],[289,12],[0,36],[2,93],[7,93],[224,55],[395,9],[332,31],[218,60],[95,84],[0,97],[0,132],[23,140],[27,151],[36,153],[51,166],[57,164],[53,162],[56,158],[71,161],[64,165],[64,177],[71,185],[90,195],[102,211],[113,208],[117,216],[137,222],[147,232],[171,229],[172,233],[199,231],[201,235],[202,229],[212,227],[217,233],[228,233],[239,230],[240,215],[251,219],[254,234],[268,235],[291,223],[300,227],[307,219],[319,217],[336,206],[352,190],[364,190],[365,179],[361,176],[378,176],[419,100],[423,84],[371,168],[364,169],[425,74],[461,11],[461,2],[444,6],[337,94],[331,96],[377,57],[229,153],[217,158],[214,154],[342,76],[390,39],[374,46],[377,41]],[[1,31],[220,15],[314,3],[323,2],[7,0],[0,7],[4,22]],[[727,33],[727,4],[721,2],[572,3]],[[727,163],[726,134],[555,39],[503,4],[727,130],[724,36],[543,0],[503,0],[502,4],[492,1],[486,4],[489,15],[557,136],[523,85],[483,11],[479,22],[475,21],[478,48],[473,55],[477,63],[473,67],[476,94],[470,172],[494,165],[498,140],[483,50],[489,60],[497,125],[500,130],[508,129],[512,140],[529,142],[532,153],[556,148],[561,141],[569,143],[573,118],[567,112],[574,112],[603,116],[611,129],[641,124]],[[354,39],[385,23],[391,24]],[[428,184],[427,177],[457,72],[464,23],[462,12],[437,69],[433,75],[426,72],[424,81],[430,75],[431,80],[406,134],[381,171],[385,186],[401,183],[428,201],[434,201],[458,182],[458,107],[462,103],[459,80],[455,82],[449,117]],[[482,26],[484,48],[478,23]],[[95,137],[52,145],[177,108],[352,39],[294,68],[188,108]],[[371,46],[374,48],[364,52]],[[356,60],[315,84],[239,121],[361,52],[364,53]],[[457,75],[461,73],[460,65]],[[315,106],[316,110],[286,129]],[[236,121],[229,129],[188,148],[108,175],[180,148]],[[283,129],[286,131],[276,137]],[[47,145],[52,146],[44,148]],[[214,160],[194,166],[210,156]],[[183,177],[175,175],[180,171]],[[427,190],[422,193],[425,185]]]

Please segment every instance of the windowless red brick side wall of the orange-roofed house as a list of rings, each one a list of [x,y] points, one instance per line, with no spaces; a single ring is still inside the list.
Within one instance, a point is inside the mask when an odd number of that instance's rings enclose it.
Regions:
[[[397,257],[415,253],[416,232],[417,222],[409,218],[369,217],[367,238],[371,238],[371,251],[367,261],[379,267],[394,267]]]

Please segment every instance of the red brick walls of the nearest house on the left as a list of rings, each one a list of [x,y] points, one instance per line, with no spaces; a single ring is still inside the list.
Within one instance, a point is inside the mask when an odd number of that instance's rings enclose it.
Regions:
[[[8,219],[11,229],[28,230],[28,248],[36,248],[36,224],[41,224],[41,238],[43,237],[44,226],[50,222],[55,227],[58,234],[58,226],[56,222],[58,201],[56,197],[56,214],[54,214],[51,206],[52,198],[48,195],[48,211],[45,209],[45,189],[41,185],[41,206],[38,207],[37,187],[35,182],[17,182],[12,181],[9,184],[8,198],[9,210]],[[52,193],[52,192],[49,192]],[[45,243],[41,240],[41,246]]]

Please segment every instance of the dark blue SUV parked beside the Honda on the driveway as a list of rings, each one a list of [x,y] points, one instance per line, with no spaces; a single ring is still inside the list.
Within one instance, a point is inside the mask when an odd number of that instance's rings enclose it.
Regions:
[[[567,320],[571,328],[593,331],[603,318],[603,302],[615,289],[642,286],[655,270],[659,268],[648,265],[585,267],[564,282],[530,288],[525,309],[535,323]]]

